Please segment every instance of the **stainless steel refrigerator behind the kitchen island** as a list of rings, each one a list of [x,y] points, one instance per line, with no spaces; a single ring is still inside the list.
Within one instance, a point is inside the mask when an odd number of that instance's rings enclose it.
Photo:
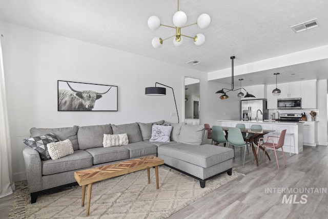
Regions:
[[[258,121],[268,120],[269,110],[267,109],[267,99],[250,99],[241,101],[241,120],[255,121],[256,112],[258,111]]]

